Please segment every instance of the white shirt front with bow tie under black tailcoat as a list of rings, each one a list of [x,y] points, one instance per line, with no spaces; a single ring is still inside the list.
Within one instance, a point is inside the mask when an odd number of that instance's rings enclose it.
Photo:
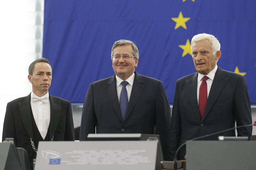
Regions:
[[[39,100],[33,101],[35,98]],[[40,100],[41,98],[44,98],[44,102]],[[42,97],[38,97],[33,92],[31,92],[30,104],[31,104],[32,113],[36,122],[36,126],[42,138],[44,139],[50,124],[51,109],[50,109],[49,92],[47,92]]]

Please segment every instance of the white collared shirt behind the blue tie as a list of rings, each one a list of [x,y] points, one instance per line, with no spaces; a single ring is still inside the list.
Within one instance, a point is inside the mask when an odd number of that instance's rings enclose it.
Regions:
[[[120,94],[122,90],[121,82],[123,82],[123,80],[117,77],[116,75],[115,75],[115,78],[116,78],[116,90],[117,90],[118,101],[120,102]],[[128,95],[128,102],[130,101],[134,78],[135,78],[135,74],[132,74],[132,76],[130,76],[128,79],[125,80],[126,82],[128,82],[128,84],[125,86],[127,90],[127,95]]]

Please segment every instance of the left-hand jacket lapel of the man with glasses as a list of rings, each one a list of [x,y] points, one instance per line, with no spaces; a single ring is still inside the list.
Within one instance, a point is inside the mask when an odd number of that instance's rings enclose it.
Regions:
[[[118,102],[117,90],[116,90],[116,79],[115,75],[110,78],[107,82],[106,92],[108,99],[115,110],[116,115],[119,117],[120,121],[122,122],[121,110],[120,105]]]

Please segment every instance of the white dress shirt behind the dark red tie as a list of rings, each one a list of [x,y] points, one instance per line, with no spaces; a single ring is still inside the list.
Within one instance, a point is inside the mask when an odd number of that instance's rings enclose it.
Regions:
[[[198,73],[198,77],[197,77],[197,103],[199,102],[199,88],[200,88],[200,85],[202,83],[203,77],[207,76],[209,78],[209,79],[206,80],[206,83],[207,83],[207,98],[208,98],[209,93],[210,93],[210,89],[211,89],[211,86],[212,86],[212,82],[213,82],[213,79],[214,79],[214,76],[215,76],[215,73],[216,73],[217,69],[218,69],[218,66],[216,64],[215,68],[210,73],[208,73],[208,75],[202,75],[202,74]]]

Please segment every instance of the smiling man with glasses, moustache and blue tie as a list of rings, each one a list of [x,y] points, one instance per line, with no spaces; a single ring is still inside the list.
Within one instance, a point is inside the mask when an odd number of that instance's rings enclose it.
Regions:
[[[164,159],[169,160],[171,113],[163,84],[135,72],[139,51],[132,41],[116,41],[111,58],[115,75],[90,84],[86,93],[80,140],[87,140],[95,127],[96,133],[154,134],[156,126]]]

